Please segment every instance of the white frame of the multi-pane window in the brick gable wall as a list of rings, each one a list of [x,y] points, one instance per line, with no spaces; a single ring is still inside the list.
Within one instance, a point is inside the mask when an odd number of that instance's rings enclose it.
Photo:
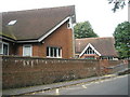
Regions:
[[[54,56],[54,47],[56,48],[56,57]],[[47,48],[49,48],[49,55],[47,55],[47,57],[49,57],[49,58],[62,58],[62,47],[47,46]],[[51,56],[51,48],[53,48],[53,54],[52,54],[53,56]],[[58,50],[60,50],[61,54],[58,54]]]

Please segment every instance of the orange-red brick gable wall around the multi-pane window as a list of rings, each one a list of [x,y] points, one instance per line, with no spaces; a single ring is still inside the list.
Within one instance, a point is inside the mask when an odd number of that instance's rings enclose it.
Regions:
[[[51,36],[43,40],[43,44],[39,46],[39,56],[46,57],[47,46],[62,47],[63,58],[74,57],[73,55],[73,31],[67,29],[67,23],[55,30]],[[35,56],[35,55],[34,55]]]

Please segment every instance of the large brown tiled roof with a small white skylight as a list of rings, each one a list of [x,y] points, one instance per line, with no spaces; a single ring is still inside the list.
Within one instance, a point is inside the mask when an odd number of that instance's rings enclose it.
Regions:
[[[14,40],[36,40],[73,15],[75,15],[74,5],[3,12],[2,36]]]

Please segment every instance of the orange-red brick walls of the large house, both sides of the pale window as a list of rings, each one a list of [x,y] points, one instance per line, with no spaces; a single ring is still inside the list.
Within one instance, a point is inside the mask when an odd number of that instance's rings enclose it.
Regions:
[[[62,47],[63,58],[74,57],[73,31],[67,29],[67,22],[44,39],[42,43],[34,43],[32,56],[47,57],[47,46]],[[16,55],[23,55],[23,44],[16,44]]]

